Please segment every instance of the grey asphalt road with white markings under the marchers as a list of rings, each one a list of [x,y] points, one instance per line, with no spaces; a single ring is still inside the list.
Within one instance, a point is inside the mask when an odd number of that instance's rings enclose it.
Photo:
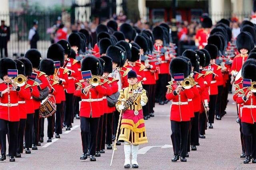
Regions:
[[[231,97],[230,95],[227,114],[222,120],[215,120],[214,129],[206,130],[206,139],[199,139],[200,146],[197,147],[197,151],[189,153],[188,162],[171,162],[173,150],[170,139],[170,102],[164,106],[156,105],[156,116],[146,121],[149,143],[140,146],[140,154],[138,154],[140,169],[256,169],[256,164],[243,164],[243,160],[239,158],[241,154],[239,125],[236,123],[236,107]],[[16,162],[8,160],[0,162],[0,169],[123,169],[123,145],[118,146],[112,167],[110,167],[112,150],[106,150],[101,157],[96,157],[96,162],[90,162],[89,159],[80,160],[82,145],[79,125],[80,121],[75,120],[72,131],[63,131],[64,134],[60,139],[53,139],[56,140],[53,143],[42,143],[38,150],[32,150],[31,154],[23,153],[22,158],[16,158]],[[44,129],[47,134],[47,127]]]

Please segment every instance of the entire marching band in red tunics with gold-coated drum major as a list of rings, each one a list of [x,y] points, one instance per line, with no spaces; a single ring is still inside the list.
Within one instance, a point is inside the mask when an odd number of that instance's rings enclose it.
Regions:
[[[80,119],[82,155],[96,157],[124,142],[124,168],[138,168],[139,145],[148,143],[144,121],[153,118],[155,103],[170,104],[174,157],[186,162],[199,138],[221,120],[230,84],[237,103],[244,163],[256,163],[256,31],[250,21],[231,39],[229,21],[212,28],[204,17],[196,33],[199,49],[176,56],[166,23],[140,30],[115,21],[96,28],[97,43],[86,29],[68,41],[50,45],[47,58],[36,49],[24,58],[0,60],[0,161],[30,154],[44,142],[69,131]],[[119,30],[119,31],[117,31]],[[6,152],[6,135],[8,152]],[[114,142],[114,146],[112,145]],[[132,155],[132,160],[130,160]],[[112,161],[111,161],[112,164]]]

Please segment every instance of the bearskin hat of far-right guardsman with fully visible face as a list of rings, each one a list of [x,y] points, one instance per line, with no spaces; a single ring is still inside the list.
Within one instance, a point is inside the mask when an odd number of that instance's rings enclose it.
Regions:
[[[250,53],[251,49],[253,48],[253,39],[252,36],[247,32],[241,32],[236,37],[236,47],[240,52],[240,49],[247,49],[248,53]]]

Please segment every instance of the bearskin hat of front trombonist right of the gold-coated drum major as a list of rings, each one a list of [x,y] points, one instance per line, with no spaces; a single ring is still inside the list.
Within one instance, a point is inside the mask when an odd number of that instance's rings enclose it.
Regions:
[[[170,65],[169,65],[169,70],[172,78],[174,78],[174,74],[180,74],[183,73],[184,77],[188,77],[189,75],[189,63],[180,57],[176,57],[172,59]]]

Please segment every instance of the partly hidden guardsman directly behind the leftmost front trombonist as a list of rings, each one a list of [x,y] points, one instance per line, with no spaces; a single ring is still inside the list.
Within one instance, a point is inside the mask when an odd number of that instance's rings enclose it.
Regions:
[[[19,60],[15,60],[15,63],[18,70],[18,74],[25,76],[25,64]],[[20,88],[24,89],[26,94],[22,96],[19,95],[19,101],[18,101],[20,123],[19,123],[19,130],[18,130],[18,144],[17,144],[16,158],[20,158],[21,157],[20,153],[23,153],[23,141],[24,141],[24,130],[26,125],[26,119],[27,119],[27,108],[30,107],[29,103],[26,103],[26,100],[29,100],[31,97],[31,93],[30,93],[31,85],[27,84],[26,82],[22,82],[22,84],[20,84],[19,86]]]

